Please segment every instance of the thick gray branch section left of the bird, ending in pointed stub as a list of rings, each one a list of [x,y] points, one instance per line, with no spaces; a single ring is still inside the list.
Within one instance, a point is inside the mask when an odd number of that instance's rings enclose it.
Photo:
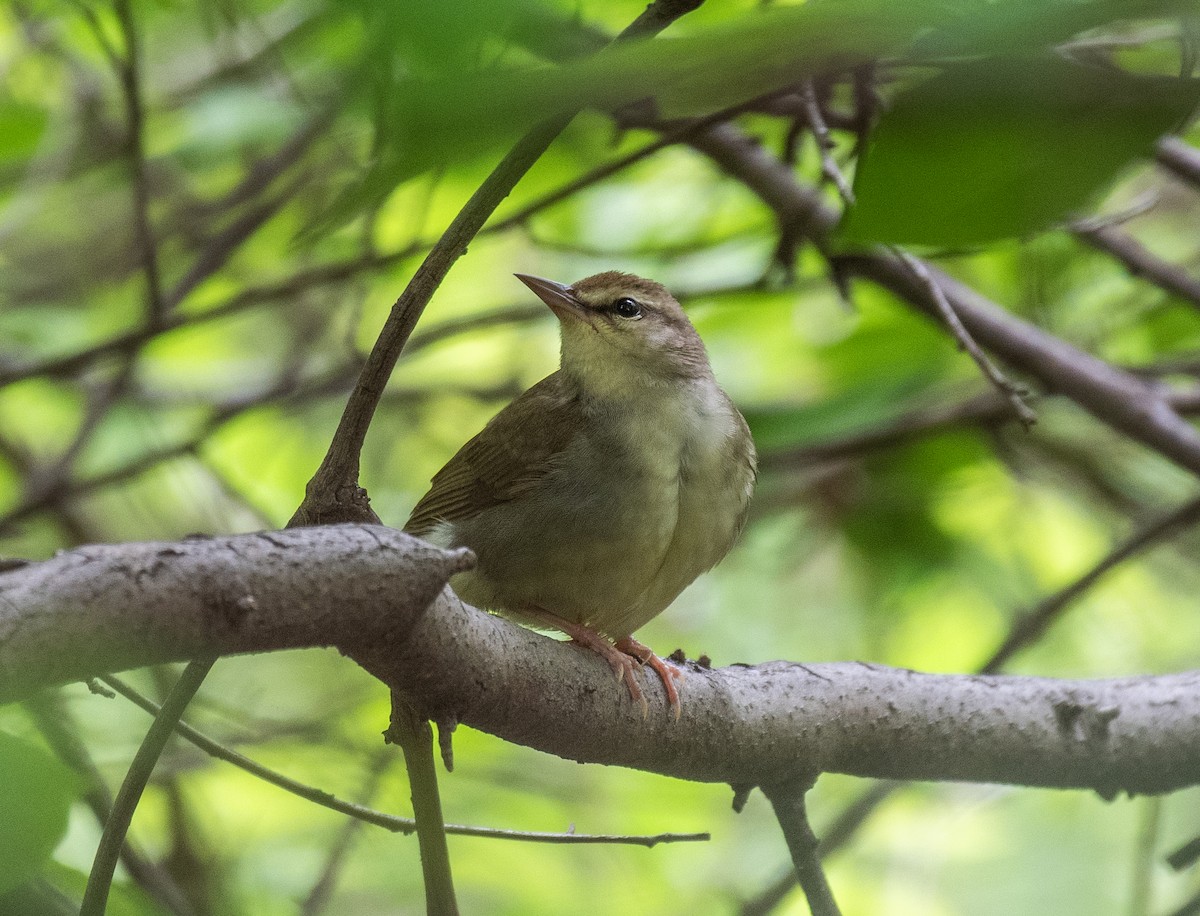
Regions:
[[[0,702],[160,661],[397,639],[469,562],[352,525],[65,551],[0,573]]]

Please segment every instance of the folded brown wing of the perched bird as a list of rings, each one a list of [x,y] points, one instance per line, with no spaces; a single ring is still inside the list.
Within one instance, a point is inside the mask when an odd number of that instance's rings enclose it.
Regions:
[[[404,531],[425,537],[532,490],[578,432],[577,405],[558,372],[535,384],[434,474]]]

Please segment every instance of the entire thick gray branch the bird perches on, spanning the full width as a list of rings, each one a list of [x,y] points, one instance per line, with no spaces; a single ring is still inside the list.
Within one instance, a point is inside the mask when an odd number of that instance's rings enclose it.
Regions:
[[[606,665],[458,601],[469,555],[378,526],[83,547],[0,574],[0,699],[211,653],[336,646],[422,714],[701,782],[1200,783],[1200,672],[1066,681],[864,664],[689,665],[643,719]]]

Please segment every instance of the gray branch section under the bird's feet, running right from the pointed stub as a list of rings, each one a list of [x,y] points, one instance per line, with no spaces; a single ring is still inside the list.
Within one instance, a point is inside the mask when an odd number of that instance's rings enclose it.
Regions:
[[[1200,671],[1060,681],[859,663],[690,665],[673,723],[653,685],[643,719],[599,658],[452,597],[403,651],[350,654],[434,718],[680,779],[754,785],[839,772],[1104,795],[1200,783]]]

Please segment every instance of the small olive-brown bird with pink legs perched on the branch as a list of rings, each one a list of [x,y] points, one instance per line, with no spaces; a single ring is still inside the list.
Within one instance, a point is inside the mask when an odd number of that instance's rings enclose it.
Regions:
[[[559,369],[446,462],[404,531],[469,547],[463,601],[595,652],[643,717],[635,666],[650,666],[678,720],[683,672],[634,633],[737,540],[754,439],[661,283],[515,276],[558,318]]]

